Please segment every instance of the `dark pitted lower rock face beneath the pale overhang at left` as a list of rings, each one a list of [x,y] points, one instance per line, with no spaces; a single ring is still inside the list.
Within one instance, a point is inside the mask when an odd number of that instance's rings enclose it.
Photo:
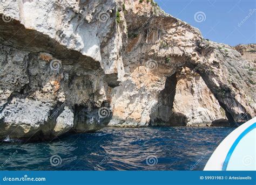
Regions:
[[[83,132],[77,129],[77,117],[81,116],[90,120],[83,123],[86,131],[107,125],[109,120],[90,113],[101,106],[109,107],[103,77],[86,71],[79,63],[66,64],[50,54],[1,48],[1,138],[36,139],[40,135],[51,139],[68,131]],[[51,61],[57,62],[58,70],[53,69],[56,66]],[[76,111],[78,105],[80,111]]]

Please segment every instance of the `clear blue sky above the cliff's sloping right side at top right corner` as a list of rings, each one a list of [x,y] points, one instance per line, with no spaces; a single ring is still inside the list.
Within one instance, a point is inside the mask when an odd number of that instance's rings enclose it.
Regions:
[[[155,0],[166,12],[197,27],[205,39],[231,46],[256,43],[255,0]]]

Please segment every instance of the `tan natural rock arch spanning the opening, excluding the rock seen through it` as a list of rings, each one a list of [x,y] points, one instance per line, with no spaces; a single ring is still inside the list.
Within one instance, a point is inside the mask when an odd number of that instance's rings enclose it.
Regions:
[[[122,85],[114,89],[119,93],[112,98],[115,119],[110,125],[147,126],[159,118],[158,109],[162,120],[167,121],[166,112],[172,109],[173,98],[165,102],[161,94],[170,91],[173,84],[167,86],[166,82],[180,67],[196,70],[231,123],[244,123],[254,117],[254,105],[248,103],[253,102],[254,89],[247,83],[250,75],[239,52],[205,40],[198,29],[172,16],[150,17],[149,22],[149,16],[133,18],[138,25],[126,23],[128,40],[123,62],[127,75]],[[147,24],[141,26],[142,22]],[[155,67],[150,69],[148,63],[152,61],[155,64],[151,66]],[[127,89],[129,86],[133,88]],[[167,102],[169,105],[165,106]],[[178,116],[181,122],[185,120],[184,115]],[[127,120],[129,124],[125,124]]]

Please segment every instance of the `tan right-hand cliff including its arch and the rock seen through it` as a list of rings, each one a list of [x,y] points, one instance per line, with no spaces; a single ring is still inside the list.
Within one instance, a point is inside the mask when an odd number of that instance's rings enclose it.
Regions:
[[[125,7],[126,74],[112,93],[110,125],[210,125],[226,119],[232,125],[254,117],[255,86],[250,75],[254,72],[239,52],[205,40],[198,29],[150,3],[132,1]],[[172,76],[181,67],[200,76],[188,75],[191,80],[177,84]],[[188,93],[191,88],[194,94]],[[191,103],[185,102],[186,95],[193,97]]]

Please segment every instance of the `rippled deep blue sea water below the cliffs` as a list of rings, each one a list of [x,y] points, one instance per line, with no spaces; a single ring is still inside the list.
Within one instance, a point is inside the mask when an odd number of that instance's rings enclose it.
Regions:
[[[43,143],[0,144],[0,170],[203,170],[231,127],[106,127]]]

